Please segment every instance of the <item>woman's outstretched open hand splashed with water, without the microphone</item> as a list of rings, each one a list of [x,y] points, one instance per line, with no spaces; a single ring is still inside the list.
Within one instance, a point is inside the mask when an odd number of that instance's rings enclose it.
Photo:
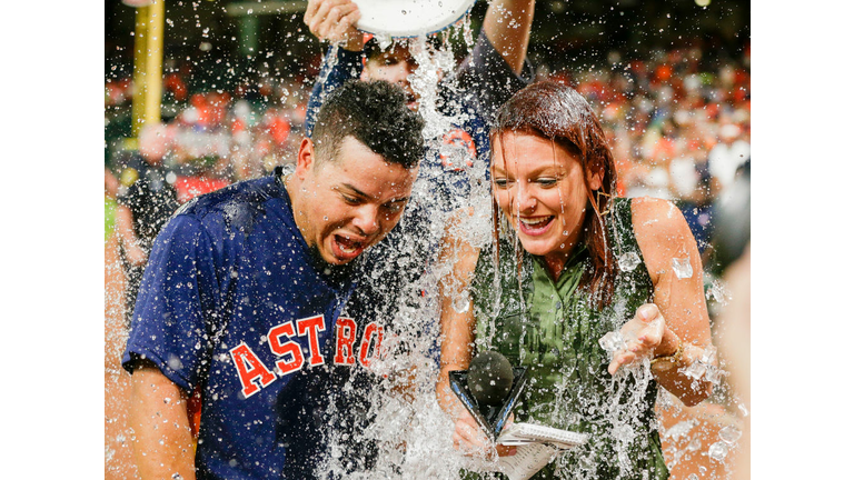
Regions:
[[[673,354],[678,349],[678,338],[667,328],[655,303],[640,306],[635,317],[626,322],[619,332],[626,340],[626,346],[614,352],[614,358],[608,364],[610,374],[635,360]]]

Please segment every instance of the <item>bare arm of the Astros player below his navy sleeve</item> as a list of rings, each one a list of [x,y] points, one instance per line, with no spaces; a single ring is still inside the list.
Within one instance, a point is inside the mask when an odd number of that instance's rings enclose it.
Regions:
[[[151,363],[131,376],[129,420],[142,480],[196,479],[187,393]]]

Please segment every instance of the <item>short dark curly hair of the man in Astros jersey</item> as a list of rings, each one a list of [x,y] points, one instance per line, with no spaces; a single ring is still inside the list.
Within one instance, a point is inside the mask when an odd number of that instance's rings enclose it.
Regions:
[[[336,160],[354,137],[387,162],[407,169],[424,157],[424,120],[406,106],[406,93],[384,80],[350,80],[327,96],[312,132],[319,161]]]

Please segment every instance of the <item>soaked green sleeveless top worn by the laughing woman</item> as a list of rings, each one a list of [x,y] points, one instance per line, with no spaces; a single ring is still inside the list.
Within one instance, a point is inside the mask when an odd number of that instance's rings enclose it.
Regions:
[[[609,356],[598,342],[653,298],[632,228],[630,203],[614,199],[605,216],[608,247],[623,267],[617,269],[613,299],[600,311],[592,306],[590,291],[579,287],[582,274],[592,268],[583,246],[572,253],[556,282],[540,257],[508,238],[499,240],[497,269],[495,247],[480,251],[471,286],[475,346],[528,368],[528,386],[515,409],[517,421],[590,436],[587,444],[558,456],[535,479],[668,477],[653,410],[657,384],[652,373],[637,366],[612,377]]]

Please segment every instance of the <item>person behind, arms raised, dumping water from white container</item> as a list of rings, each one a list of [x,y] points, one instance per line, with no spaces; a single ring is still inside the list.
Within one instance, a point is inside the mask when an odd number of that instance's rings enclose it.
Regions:
[[[393,261],[384,263],[384,274],[367,278],[354,293],[346,311],[358,322],[389,322],[401,299],[423,294],[426,286],[416,282],[428,278],[425,271],[436,258],[447,214],[459,206],[470,204],[470,186],[486,178],[488,120],[498,106],[534,76],[526,61],[533,17],[534,0],[490,2],[471,53],[458,66],[453,79],[439,83],[437,110],[449,119],[448,129],[440,138],[427,141],[414,189],[417,193],[401,227],[370,252],[373,258]],[[340,46],[329,48],[311,92],[306,119],[308,136],[316,124],[314,112],[325,97],[349,79],[383,79],[400,84],[407,91],[408,106],[414,110],[420,108],[409,81],[418,68],[409,41],[396,39],[385,48],[376,39],[366,41],[354,27],[359,18],[358,7],[351,0],[308,2],[304,20],[309,30],[320,40]],[[330,61],[328,57],[334,52],[337,57]],[[390,296],[397,301],[390,301]],[[431,354],[438,358],[437,346]]]

